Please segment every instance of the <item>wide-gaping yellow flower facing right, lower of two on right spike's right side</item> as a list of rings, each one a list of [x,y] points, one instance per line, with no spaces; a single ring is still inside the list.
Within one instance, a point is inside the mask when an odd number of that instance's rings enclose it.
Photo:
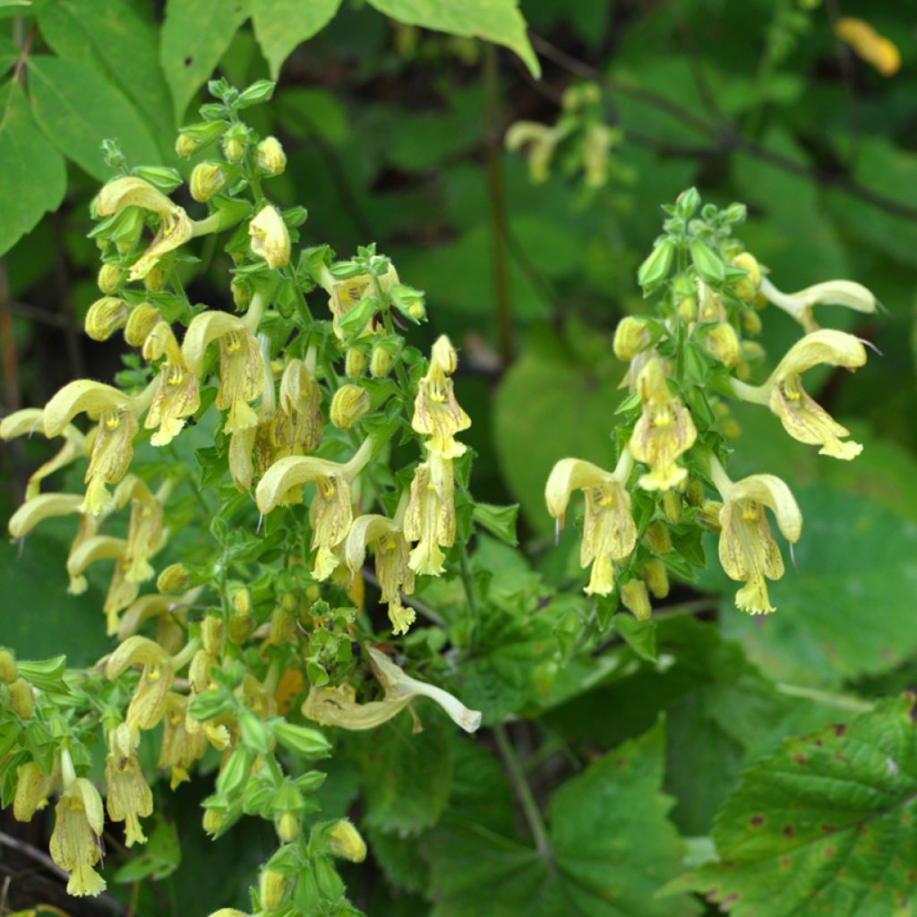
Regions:
[[[866,348],[843,331],[812,331],[790,348],[763,385],[746,385],[734,379],[733,390],[743,401],[767,404],[793,439],[810,445],[821,444],[820,455],[856,458],[863,447],[852,440],[842,441],[850,431],[802,388],[801,373],[820,363],[856,370],[866,363]]]

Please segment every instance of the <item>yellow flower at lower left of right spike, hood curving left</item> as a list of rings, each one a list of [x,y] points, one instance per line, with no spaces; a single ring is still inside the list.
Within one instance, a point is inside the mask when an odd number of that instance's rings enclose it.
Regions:
[[[636,545],[636,525],[630,494],[624,489],[634,462],[625,449],[613,473],[580,458],[562,458],[551,470],[545,488],[547,512],[563,528],[570,496],[586,498],[580,543],[580,567],[592,565],[586,592],[608,595],[614,589],[614,561],[623,560]]]

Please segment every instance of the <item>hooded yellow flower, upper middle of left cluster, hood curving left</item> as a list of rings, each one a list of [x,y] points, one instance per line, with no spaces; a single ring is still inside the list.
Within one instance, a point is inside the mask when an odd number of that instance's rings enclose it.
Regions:
[[[258,326],[263,301],[256,295],[245,318],[226,312],[195,315],[182,341],[184,365],[193,375],[204,371],[207,345],[218,341],[220,348],[220,385],[216,406],[226,414],[226,433],[235,433],[258,424],[258,413],[250,403],[264,392],[267,377],[258,340],[252,333]]]

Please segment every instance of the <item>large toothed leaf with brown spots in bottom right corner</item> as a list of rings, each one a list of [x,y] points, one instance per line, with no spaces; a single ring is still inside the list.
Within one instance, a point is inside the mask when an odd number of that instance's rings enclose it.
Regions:
[[[713,829],[720,860],[670,883],[737,917],[886,917],[917,905],[914,700],[788,739]]]

